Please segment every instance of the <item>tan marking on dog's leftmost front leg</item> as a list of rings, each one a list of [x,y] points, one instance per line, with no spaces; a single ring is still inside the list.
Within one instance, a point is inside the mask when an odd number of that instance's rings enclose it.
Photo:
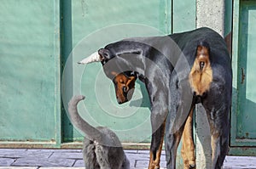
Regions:
[[[164,128],[166,128],[166,121],[163,123]],[[165,130],[161,134],[161,140],[160,140],[160,146],[156,151],[156,158],[154,160],[154,155],[153,152],[150,151],[150,160],[149,160],[149,165],[148,169],[157,169],[160,168],[160,157],[161,157],[161,152],[162,152],[162,146],[165,138]]]

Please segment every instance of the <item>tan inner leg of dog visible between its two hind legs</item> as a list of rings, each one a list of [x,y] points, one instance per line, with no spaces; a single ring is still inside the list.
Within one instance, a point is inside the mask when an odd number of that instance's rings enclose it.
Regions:
[[[183,156],[183,168],[195,168],[195,144],[193,140],[193,111],[191,109],[189,112],[188,119],[185,123],[183,130],[183,146],[182,146],[182,156]]]

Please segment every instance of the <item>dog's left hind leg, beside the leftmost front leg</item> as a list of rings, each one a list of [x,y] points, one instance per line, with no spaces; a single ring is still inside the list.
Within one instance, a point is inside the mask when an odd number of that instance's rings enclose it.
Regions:
[[[168,169],[176,168],[177,146],[182,138],[189,112],[193,112],[193,94],[188,81],[172,78],[171,98],[172,106],[166,119],[166,165]],[[192,115],[192,114],[191,114]],[[191,122],[189,120],[189,122]],[[192,124],[191,124],[192,125]],[[190,126],[190,124],[189,124]],[[189,134],[191,135],[191,134]]]

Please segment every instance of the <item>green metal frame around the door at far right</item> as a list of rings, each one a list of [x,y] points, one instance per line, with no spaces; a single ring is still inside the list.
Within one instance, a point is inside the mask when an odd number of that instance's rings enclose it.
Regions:
[[[233,68],[233,96],[232,108],[230,114],[230,155],[256,155],[256,147],[251,146],[252,141],[256,140],[242,140],[236,137],[237,130],[237,115],[239,113],[238,102],[238,85],[241,82],[241,70],[239,69],[239,54],[240,54],[240,21],[241,20],[241,0],[235,0],[233,5],[233,33],[232,33],[232,68]],[[252,124],[253,125],[253,124]]]

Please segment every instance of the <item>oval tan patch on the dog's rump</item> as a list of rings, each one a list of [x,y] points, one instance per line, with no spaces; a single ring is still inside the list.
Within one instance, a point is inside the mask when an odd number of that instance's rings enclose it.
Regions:
[[[203,95],[212,82],[212,67],[209,59],[209,49],[198,46],[194,65],[189,73],[189,83],[196,95]]]

